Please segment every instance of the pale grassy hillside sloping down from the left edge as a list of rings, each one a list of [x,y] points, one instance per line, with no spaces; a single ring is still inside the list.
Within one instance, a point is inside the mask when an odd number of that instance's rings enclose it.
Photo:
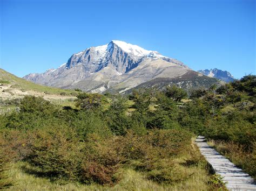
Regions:
[[[47,86],[41,86],[33,82],[26,81],[0,68],[0,83],[11,89],[19,89],[22,91],[37,91],[44,94],[72,95],[75,91],[65,90]]]

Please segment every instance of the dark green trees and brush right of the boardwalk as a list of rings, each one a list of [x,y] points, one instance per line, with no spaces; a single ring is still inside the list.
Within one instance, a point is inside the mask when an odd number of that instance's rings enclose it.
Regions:
[[[256,177],[256,76],[191,94],[180,124],[205,135],[235,165]]]

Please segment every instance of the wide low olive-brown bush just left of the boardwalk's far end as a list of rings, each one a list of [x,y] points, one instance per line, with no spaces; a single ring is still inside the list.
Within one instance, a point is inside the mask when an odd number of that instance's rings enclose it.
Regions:
[[[143,161],[154,158],[170,158],[188,151],[191,143],[190,133],[184,130],[151,130],[146,135],[139,136],[128,131],[120,137],[116,145],[126,159]]]

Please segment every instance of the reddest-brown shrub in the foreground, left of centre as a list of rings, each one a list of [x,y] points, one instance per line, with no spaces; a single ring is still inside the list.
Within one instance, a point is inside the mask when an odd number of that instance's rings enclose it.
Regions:
[[[82,161],[82,181],[113,185],[120,180],[119,169],[123,157],[115,149],[114,139],[100,140],[96,134],[87,139],[85,158]]]

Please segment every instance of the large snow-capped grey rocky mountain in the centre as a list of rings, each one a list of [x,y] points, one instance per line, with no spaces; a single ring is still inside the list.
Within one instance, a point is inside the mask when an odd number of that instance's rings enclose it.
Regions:
[[[176,79],[191,71],[183,62],[156,51],[112,40],[109,44],[73,54],[68,62],[57,69],[49,69],[42,74],[28,74],[24,79],[64,89],[124,93],[147,81]],[[197,72],[193,75],[198,77],[197,80],[202,76]]]

